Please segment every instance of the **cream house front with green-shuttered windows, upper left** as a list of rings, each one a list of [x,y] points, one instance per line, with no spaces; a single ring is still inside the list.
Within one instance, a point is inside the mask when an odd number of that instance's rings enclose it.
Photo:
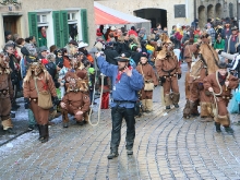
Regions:
[[[7,0],[0,0],[5,2]],[[16,1],[16,0],[14,0]],[[47,46],[64,47],[70,38],[94,44],[94,0],[17,0],[15,4],[0,4],[0,48],[4,32],[20,37],[40,38],[39,29],[47,29]]]

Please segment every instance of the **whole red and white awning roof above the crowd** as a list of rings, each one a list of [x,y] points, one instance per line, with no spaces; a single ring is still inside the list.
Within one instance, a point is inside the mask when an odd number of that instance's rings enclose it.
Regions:
[[[95,24],[97,25],[115,25],[115,24],[136,24],[149,22],[148,20],[141,19],[131,14],[110,9],[101,5],[98,2],[94,2],[95,11]]]

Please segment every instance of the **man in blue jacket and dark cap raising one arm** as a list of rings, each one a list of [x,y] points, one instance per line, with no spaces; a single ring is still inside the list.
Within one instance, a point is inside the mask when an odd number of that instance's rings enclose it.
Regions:
[[[118,146],[121,140],[121,124],[123,118],[127,123],[127,154],[132,155],[135,139],[134,105],[137,100],[137,91],[142,89],[144,85],[143,76],[129,64],[129,59],[123,55],[116,58],[118,65],[108,63],[100,52],[97,52],[96,57],[100,72],[112,79],[112,130],[108,159],[112,159],[119,155]]]

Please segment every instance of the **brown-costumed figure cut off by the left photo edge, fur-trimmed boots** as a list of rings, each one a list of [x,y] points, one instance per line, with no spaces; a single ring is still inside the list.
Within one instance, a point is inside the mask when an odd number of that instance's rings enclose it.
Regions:
[[[11,98],[13,97],[13,88],[11,82],[11,68],[9,67],[9,57],[0,53],[0,118],[3,130],[14,133],[11,112]]]

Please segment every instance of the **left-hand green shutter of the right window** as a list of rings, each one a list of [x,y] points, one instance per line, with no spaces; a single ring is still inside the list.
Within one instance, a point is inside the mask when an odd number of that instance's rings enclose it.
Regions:
[[[60,11],[61,15],[61,41],[62,47],[64,47],[69,43],[69,24],[68,24],[68,12]]]

